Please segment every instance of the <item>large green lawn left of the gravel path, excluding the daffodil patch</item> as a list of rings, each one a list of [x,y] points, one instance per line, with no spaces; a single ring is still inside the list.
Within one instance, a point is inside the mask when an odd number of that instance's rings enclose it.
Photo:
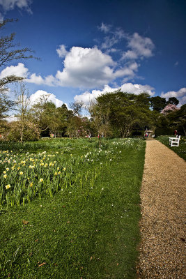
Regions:
[[[136,278],[145,141],[103,140],[101,151],[94,139],[26,144],[22,152],[63,150],[77,179],[52,197],[2,205],[0,278]]]

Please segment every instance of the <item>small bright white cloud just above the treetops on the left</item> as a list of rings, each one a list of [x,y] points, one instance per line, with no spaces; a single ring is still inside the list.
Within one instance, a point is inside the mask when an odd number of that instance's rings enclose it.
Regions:
[[[63,105],[62,100],[57,99],[54,94],[48,93],[47,91],[44,90],[38,90],[36,91],[36,93],[33,93],[30,96],[31,105],[33,105],[34,103],[38,103],[40,98],[42,98],[43,96],[47,98],[47,101],[52,101],[52,103],[54,103],[56,107],[61,107],[61,105]]]

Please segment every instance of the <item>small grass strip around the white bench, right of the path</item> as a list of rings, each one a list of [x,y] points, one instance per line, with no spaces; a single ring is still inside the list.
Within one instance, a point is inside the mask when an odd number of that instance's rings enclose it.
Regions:
[[[183,137],[183,136],[180,137],[179,146],[170,146],[169,137],[173,137],[173,136],[172,135],[161,135],[160,137],[157,137],[156,140],[159,140],[160,142],[162,142],[162,144],[169,147],[169,149],[176,152],[178,154],[178,156],[180,156],[181,158],[186,160],[186,137]]]

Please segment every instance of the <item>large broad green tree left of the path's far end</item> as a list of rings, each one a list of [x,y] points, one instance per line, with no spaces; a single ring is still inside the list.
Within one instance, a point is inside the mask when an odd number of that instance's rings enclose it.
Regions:
[[[135,126],[148,125],[151,121],[148,99],[146,93],[137,96],[121,91],[99,96],[89,108],[98,133],[127,137]]]

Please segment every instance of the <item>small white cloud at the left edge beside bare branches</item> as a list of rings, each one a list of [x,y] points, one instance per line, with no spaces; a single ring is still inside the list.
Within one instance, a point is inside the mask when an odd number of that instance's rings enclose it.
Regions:
[[[23,63],[18,63],[17,66],[8,66],[0,73],[0,79],[8,75],[16,75],[17,77],[27,77],[28,69],[24,67]]]

